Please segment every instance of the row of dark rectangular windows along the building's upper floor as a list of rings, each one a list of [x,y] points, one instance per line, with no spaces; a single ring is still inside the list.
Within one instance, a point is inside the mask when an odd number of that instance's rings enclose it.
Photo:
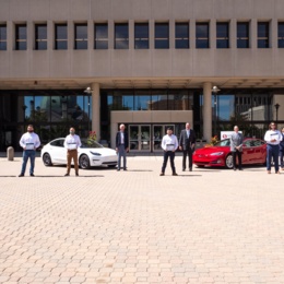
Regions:
[[[35,24],[34,48],[36,50],[47,49],[47,24]],[[68,48],[68,24],[55,24],[55,49]],[[156,49],[169,48],[169,23],[155,23],[154,46]],[[14,25],[15,38],[14,49],[25,50],[27,48],[26,24]],[[270,47],[270,22],[258,22],[258,48]],[[216,23],[216,48],[229,48],[229,22]],[[190,48],[189,23],[175,23],[175,48]],[[108,49],[108,24],[94,25],[94,49]],[[284,22],[277,23],[277,46],[284,48]],[[129,24],[115,23],[114,32],[115,49],[129,48]],[[74,24],[74,49],[87,49],[87,24]],[[236,47],[250,47],[250,22],[237,22]],[[134,48],[150,48],[149,23],[134,23]],[[210,48],[210,23],[196,23],[196,48]],[[7,50],[7,24],[0,24],[0,50]]]

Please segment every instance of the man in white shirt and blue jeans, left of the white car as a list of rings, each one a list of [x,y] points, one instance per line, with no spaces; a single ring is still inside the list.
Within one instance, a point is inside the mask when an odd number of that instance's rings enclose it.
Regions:
[[[22,170],[19,177],[23,177],[25,175],[28,158],[31,159],[29,176],[34,177],[36,149],[40,146],[40,141],[38,135],[34,133],[34,127],[32,125],[27,126],[27,132],[22,135],[20,145],[23,147],[24,152]]]

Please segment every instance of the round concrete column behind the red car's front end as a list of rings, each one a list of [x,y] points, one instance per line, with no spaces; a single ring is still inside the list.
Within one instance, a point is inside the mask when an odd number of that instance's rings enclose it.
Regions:
[[[203,138],[210,142],[212,138],[212,83],[203,84]]]

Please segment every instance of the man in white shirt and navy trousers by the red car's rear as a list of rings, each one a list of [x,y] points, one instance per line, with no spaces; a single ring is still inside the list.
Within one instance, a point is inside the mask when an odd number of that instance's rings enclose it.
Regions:
[[[270,130],[267,131],[264,135],[264,140],[267,141],[267,169],[268,174],[271,174],[271,158],[273,157],[275,173],[279,171],[279,144],[282,141],[282,134],[276,129],[276,125],[274,122],[270,123]]]

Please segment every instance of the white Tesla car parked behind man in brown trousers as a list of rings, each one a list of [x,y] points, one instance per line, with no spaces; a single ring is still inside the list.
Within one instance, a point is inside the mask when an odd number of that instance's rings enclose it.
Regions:
[[[95,141],[82,139],[82,145],[78,150],[79,165],[81,168],[90,168],[92,166],[116,167],[116,151],[104,147]],[[54,164],[67,164],[67,150],[64,149],[64,138],[58,138],[46,144],[40,152],[40,156],[45,166]]]

